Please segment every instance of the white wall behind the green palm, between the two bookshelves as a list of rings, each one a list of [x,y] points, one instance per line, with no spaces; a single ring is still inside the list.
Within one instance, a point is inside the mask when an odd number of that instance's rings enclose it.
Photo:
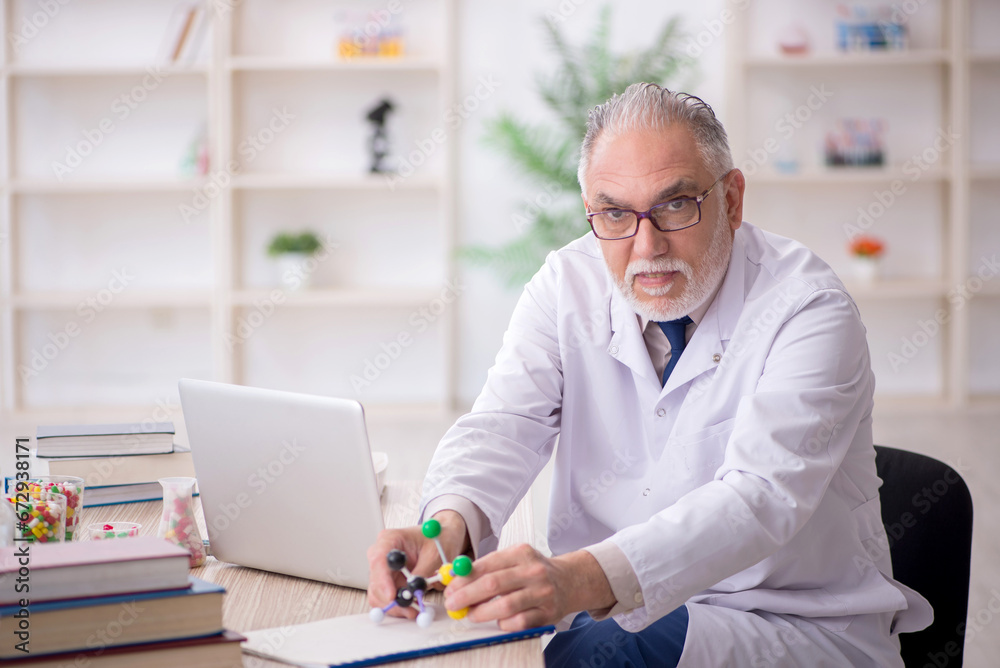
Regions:
[[[502,156],[483,146],[483,122],[503,109],[525,119],[549,121],[535,92],[535,75],[550,71],[556,59],[547,48],[541,19],[548,12],[560,16],[564,34],[579,43],[589,38],[601,6],[593,0],[462,3],[457,96],[461,99],[473,92],[480,77],[492,78],[500,85],[459,129],[460,243],[499,245],[516,237],[512,216],[544,192],[515,173]],[[723,0],[617,3],[612,41],[621,50],[646,47],[670,17],[683,17],[691,38],[700,36],[700,43],[706,45],[686,91],[702,97],[721,114],[726,107],[725,39],[720,33],[725,29],[723,7]],[[503,288],[499,279],[484,269],[465,265],[462,276],[468,287],[459,314],[458,390],[461,401],[471,402],[482,389],[486,371],[500,348],[519,291]]]

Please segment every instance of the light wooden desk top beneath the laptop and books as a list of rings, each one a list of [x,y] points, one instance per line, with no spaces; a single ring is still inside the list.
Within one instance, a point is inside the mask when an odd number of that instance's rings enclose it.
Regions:
[[[382,497],[382,512],[386,526],[401,527],[416,523],[419,489],[419,483],[390,482],[386,485]],[[86,492],[84,494],[86,495]],[[533,527],[530,501],[530,495],[526,496],[514,511],[514,515],[503,530],[501,547],[530,542]],[[155,536],[162,508],[163,504],[160,501],[86,508],[82,514],[81,526],[86,527],[92,522],[139,522],[142,524],[141,535]],[[207,538],[208,533],[205,531],[205,519],[200,512],[200,505],[197,517],[202,536]],[[87,535],[81,532],[81,538],[87,538]],[[209,557],[204,566],[192,569],[191,574],[226,588],[222,603],[222,622],[227,629],[237,632],[302,624],[317,619],[368,611],[367,594],[359,589],[244,568],[220,562],[213,557]],[[540,668],[544,666],[541,647],[541,639],[532,638],[392,665],[416,668],[430,666],[446,668],[538,666]],[[243,655],[243,665],[252,668],[287,668],[287,664],[246,654]]]

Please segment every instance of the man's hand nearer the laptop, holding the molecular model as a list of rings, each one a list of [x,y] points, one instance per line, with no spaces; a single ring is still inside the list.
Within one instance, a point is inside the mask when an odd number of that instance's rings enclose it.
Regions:
[[[441,535],[438,538],[445,556],[454,559],[464,554],[468,550],[469,539],[462,516],[454,511],[442,510],[434,515],[434,519],[441,523]],[[441,567],[437,546],[433,540],[424,538],[419,526],[381,531],[375,544],[368,548],[368,604],[373,608],[384,608],[396,600],[396,590],[406,584],[406,576],[402,572],[394,573],[389,570],[386,555],[391,550],[402,550],[406,554],[406,567],[414,575],[431,577]],[[412,619],[417,616],[417,612],[412,606],[401,608],[397,605],[387,614]]]

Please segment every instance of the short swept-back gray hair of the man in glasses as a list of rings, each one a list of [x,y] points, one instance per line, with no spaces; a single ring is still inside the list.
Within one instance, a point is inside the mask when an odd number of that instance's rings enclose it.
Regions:
[[[722,123],[701,98],[667,90],[653,83],[634,83],[621,95],[612,95],[590,110],[587,132],[580,146],[577,179],[586,195],[584,178],[590,156],[605,132],[612,136],[643,130],[660,130],[683,123],[694,135],[702,160],[715,176],[733,169],[733,155]]]

